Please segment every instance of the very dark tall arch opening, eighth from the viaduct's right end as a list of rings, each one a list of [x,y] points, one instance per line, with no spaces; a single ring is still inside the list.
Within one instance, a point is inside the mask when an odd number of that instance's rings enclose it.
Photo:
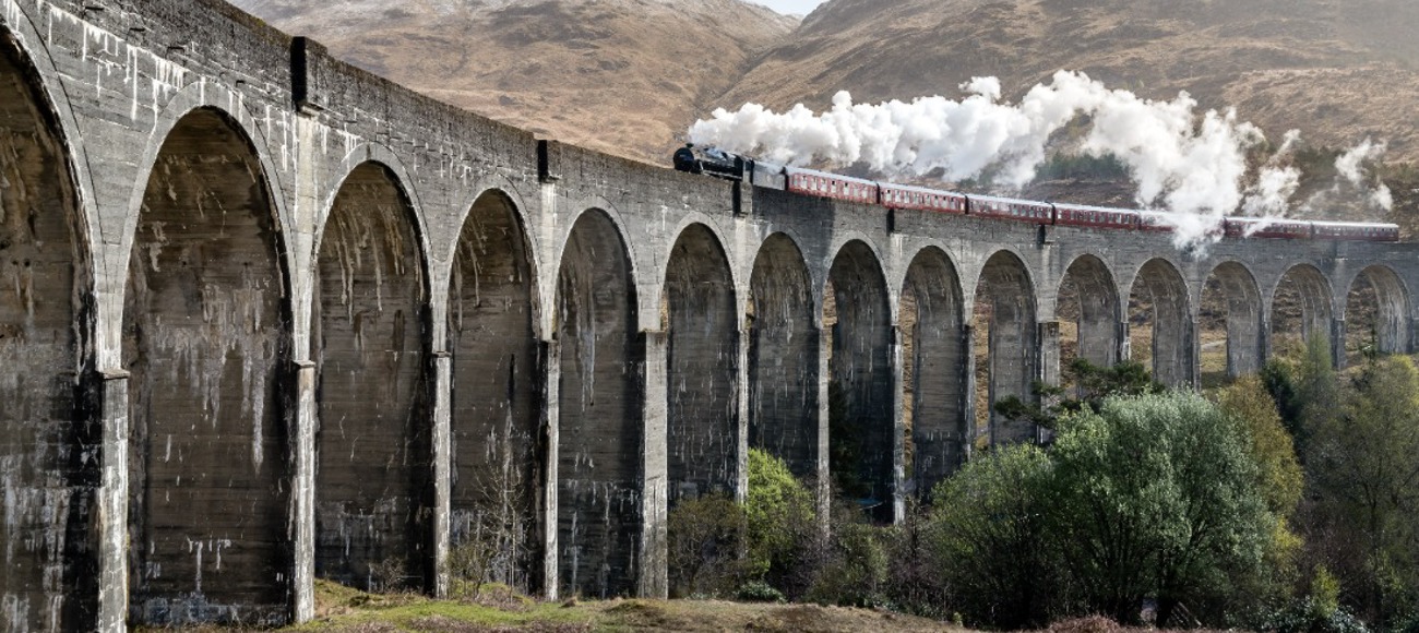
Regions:
[[[837,494],[857,500],[876,519],[891,521],[898,431],[887,278],[871,247],[851,240],[833,258],[827,284],[829,471]]]

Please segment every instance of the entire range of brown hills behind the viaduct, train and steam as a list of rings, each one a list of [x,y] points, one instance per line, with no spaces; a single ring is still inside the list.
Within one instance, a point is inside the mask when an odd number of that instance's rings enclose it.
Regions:
[[[1419,159],[1412,0],[829,0],[802,24],[739,0],[238,4],[440,99],[654,163],[714,106],[820,109],[839,89],[858,101],[955,97],[975,75],[999,77],[1013,99],[1061,68],[1144,97],[1189,91],[1205,108],[1236,106],[1271,139],[1298,128],[1311,173],[1332,160],[1327,150],[1366,136],[1389,143],[1391,162]],[[1395,173],[1410,209],[1419,172]],[[1108,180],[1025,194],[1132,203],[1127,183]]]

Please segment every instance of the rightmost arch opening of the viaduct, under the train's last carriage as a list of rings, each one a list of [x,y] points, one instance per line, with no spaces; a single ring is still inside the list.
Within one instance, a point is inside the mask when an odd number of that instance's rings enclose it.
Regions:
[[[1366,355],[1409,351],[1409,292],[1386,265],[1371,265],[1355,277],[1345,299],[1345,355],[1349,363]]]

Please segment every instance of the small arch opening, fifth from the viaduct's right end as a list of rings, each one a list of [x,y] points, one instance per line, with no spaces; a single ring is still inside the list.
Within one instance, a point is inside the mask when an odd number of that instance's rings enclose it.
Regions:
[[[1111,366],[1118,362],[1120,324],[1122,308],[1118,299],[1118,282],[1108,264],[1097,255],[1080,255],[1064,271],[1054,314],[1064,324],[1061,346],[1073,331],[1073,349],[1061,349],[1061,365],[1069,366],[1074,358],[1081,358],[1097,366]]]

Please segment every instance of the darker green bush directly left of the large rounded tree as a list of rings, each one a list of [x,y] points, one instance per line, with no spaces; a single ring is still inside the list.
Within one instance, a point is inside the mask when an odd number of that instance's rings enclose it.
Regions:
[[[952,607],[1002,629],[1049,623],[1063,595],[1047,524],[1051,464],[1007,446],[969,461],[932,491],[929,535]]]

